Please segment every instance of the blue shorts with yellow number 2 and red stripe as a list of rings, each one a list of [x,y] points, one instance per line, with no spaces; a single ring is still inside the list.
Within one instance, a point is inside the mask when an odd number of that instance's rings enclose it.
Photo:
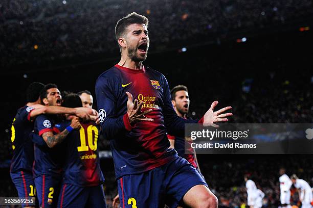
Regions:
[[[61,175],[40,175],[35,178],[39,207],[56,207],[58,204]]]

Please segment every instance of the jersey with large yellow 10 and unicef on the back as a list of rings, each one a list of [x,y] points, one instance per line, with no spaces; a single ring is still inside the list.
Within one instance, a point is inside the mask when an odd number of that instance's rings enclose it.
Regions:
[[[71,121],[61,123],[60,131],[70,124]],[[81,123],[79,130],[73,130],[66,136],[63,184],[90,187],[103,183],[98,150],[99,132],[95,122],[88,122]]]

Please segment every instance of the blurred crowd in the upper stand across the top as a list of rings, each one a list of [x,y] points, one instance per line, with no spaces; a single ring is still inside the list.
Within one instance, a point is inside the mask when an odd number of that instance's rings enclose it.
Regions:
[[[197,38],[212,40],[238,30],[295,22],[312,15],[304,1],[10,1],[0,3],[1,67],[46,66],[55,59],[111,57],[118,51],[115,23],[126,13],[150,20],[151,49]],[[169,23],[170,22],[170,23]],[[188,40],[188,41],[187,41]]]

